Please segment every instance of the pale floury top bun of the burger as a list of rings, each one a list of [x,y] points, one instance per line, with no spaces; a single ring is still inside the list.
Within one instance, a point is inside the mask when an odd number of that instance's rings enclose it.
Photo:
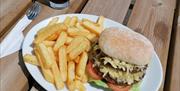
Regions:
[[[99,46],[106,55],[136,65],[149,64],[154,51],[151,42],[143,35],[115,27],[100,34]]]

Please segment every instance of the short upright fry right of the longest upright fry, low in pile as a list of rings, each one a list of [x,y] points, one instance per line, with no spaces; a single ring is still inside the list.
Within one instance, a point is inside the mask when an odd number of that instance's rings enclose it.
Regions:
[[[75,63],[73,61],[68,62],[68,76],[67,81],[72,82],[75,79]]]

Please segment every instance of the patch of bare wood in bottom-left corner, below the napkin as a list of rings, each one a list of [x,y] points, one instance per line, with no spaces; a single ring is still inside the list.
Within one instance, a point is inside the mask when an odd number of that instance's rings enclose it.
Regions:
[[[27,91],[28,80],[19,61],[18,52],[0,60],[0,90],[1,91]]]

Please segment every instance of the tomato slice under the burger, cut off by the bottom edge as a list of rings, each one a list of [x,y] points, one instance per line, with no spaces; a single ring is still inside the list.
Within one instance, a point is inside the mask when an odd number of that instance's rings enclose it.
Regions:
[[[113,91],[129,91],[130,86],[119,86],[112,83],[107,83],[109,88],[111,88]]]

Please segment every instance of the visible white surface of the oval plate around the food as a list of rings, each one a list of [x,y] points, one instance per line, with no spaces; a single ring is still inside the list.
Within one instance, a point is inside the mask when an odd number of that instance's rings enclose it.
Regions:
[[[79,19],[87,18],[87,19],[90,19],[92,21],[96,21],[97,18],[98,18],[98,16],[87,15],[87,14],[65,14],[65,15],[59,15],[59,16],[55,16],[55,17],[59,17],[60,21],[62,22],[65,19],[66,16],[77,16]],[[52,18],[53,17],[41,21],[40,23],[36,24],[28,32],[28,34],[26,35],[26,37],[24,39],[24,42],[23,42],[23,47],[22,47],[23,55],[32,54],[33,49],[32,49],[31,44],[32,44],[32,42],[34,40],[34,37],[35,37],[37,31],[40,28],[45,27]],[[105,22],[104,22],[104,27],[108,28],[108,27],[112,27],[112,26],[119,27],[121,29],[131,31],[131,29],[127,28],[126,26],[106,18]],[[53,84],[47,82],[44,79],[40,69],[37,66],[31,65],[29,63],[25,63],[25,65],[26,65],[29,73],[32,75],[32,77],[43,88],[45,88],[48,91],[55,91],[56,90],[56,88],[55,88],[55,86]],[[141,89],[141,91],[158,91],[158,89],[159,89],[159,87],[161,85],[161,82],[162,82],[162,66],[161,66],[160,60],[159,60],[156,52],[154,52],[152,61],[150,63],[149,68],[147,69],[147,73],[146,73],[146,75],[145,75],[145,77],[144,77],[144,79],[142,81],[140,89]],[[86,86],[87,91],[102,91],[101,89],[91,87],[89,84],[85,84],[85,86]],[[65,87],[63,89],[63,91],[67,91],[67,88]]]

